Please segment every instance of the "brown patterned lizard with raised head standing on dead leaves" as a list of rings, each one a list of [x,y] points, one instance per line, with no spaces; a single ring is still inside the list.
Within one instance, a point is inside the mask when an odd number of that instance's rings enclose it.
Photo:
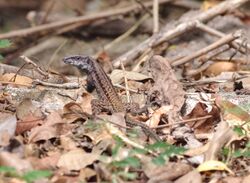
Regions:
[[[115,112],[128,112],[129,109],[118,96],[110,78],[105,73],[98,62],[90,56],[73,55],[63,59],[64,63],[77,67],[81,72],[87,74],[87,89],[96,89],[99,100],[91,101],[93,114],[96,115],[103,110]],[[144,133],[153,137],[156,141],[161,141],[159,136],[147,125],[135,122],[129,115],[125,115],[128,126],[140,126]]]

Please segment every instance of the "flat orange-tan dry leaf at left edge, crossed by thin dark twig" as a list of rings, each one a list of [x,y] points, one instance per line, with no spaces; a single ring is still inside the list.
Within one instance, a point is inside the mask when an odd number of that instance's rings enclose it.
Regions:
[[[0,81],[6,83],[15,83],[17,85],[31,86],[33,80],[26,76],[16,75],[14,73],[8,73],[0,76]]]

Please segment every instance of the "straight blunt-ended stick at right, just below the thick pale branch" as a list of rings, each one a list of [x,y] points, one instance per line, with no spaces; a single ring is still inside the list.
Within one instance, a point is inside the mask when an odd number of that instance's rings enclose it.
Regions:
[[[209,46],[189,55],[186,56],[184,58],[181,58],[179,60],[176,60],[175,62],[172,62],[171,65],[172,66],[178,66],[184,63],[187,63],[189,61],[191,61],[194,58],[200,57],[208,52],[210,52],[211,50],[214,50],[224,44],[230,43],[233,40],[239,38],[242,35],[242,31],[236,31],[235,33],[231,33],[231,34],[227,34],[226,36],[222,37],[221,39],[219,39],[218,41],[214,42],[213,44],[210,44]]]

